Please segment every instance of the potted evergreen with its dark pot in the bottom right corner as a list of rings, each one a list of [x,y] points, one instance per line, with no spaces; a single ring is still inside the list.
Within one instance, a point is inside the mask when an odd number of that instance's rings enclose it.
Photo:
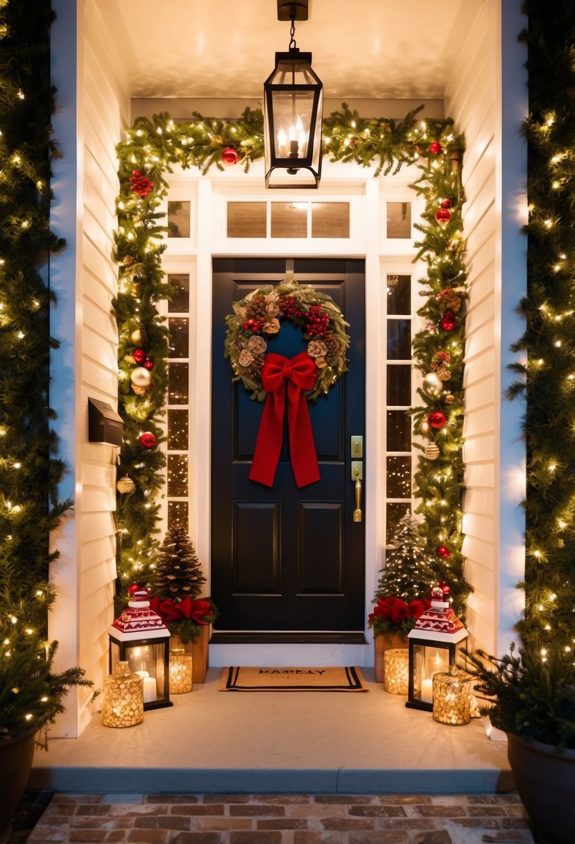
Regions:
[[[482,715],[507,733],[519,796],[544,844],[575,830],[575,663],[572,652],[466,652]]]

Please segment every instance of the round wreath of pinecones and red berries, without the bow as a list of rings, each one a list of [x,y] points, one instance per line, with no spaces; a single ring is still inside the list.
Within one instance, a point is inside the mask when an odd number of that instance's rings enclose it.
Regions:
[[[234,302],[228,314],[224,354],[229,357],[234,381],[243,381],[252,398],[263,402],[266,389],[261,370],[266,359],[267,340],[275,337],[288,319],[304,332],[307,354],[315,366],[315,380],[306,390],[308,401],[327,392],[347,370],[349,325],[334,300],[309,285],[287,281],[273,288],[260,288]]]

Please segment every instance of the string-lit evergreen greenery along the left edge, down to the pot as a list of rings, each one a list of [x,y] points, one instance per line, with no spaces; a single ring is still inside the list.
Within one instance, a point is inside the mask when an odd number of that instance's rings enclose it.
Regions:
[[[50,230],[52,19],[50,0],[0,3],[0,738],[51,722],[69,685],[89,685],[80,668],[53,674],[45,642],[49,534],[71,506],[49,407],[47,257],[63,246]]]

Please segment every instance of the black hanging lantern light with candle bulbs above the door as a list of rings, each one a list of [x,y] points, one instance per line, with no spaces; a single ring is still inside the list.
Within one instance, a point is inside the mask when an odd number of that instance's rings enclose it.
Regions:
[[[291,20],[288,52],[264,83],[266,187],[318,187],[321,175],[323,84],[311,53],[295,42],[295,21],[308,19],[306,3],[277,3],[277,18]]]

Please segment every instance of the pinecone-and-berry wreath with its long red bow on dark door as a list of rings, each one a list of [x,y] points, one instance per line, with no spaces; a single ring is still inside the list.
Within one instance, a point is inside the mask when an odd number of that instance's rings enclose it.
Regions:
[[[307,347],[291,360],[267,351],[267,338],[276,336],[282,319],[304,332]],[[224,354],[234,381],[244,381],[251,397],[267,397],[250,468],[250,480],[273,486],[282,450],[283,418],[287,408],[290,457],[298,487],[320,480],[308,401],[327,392],[347,369],[347,322],[330,296],[290,280],[254,290],[234,302],[226,317]]]

